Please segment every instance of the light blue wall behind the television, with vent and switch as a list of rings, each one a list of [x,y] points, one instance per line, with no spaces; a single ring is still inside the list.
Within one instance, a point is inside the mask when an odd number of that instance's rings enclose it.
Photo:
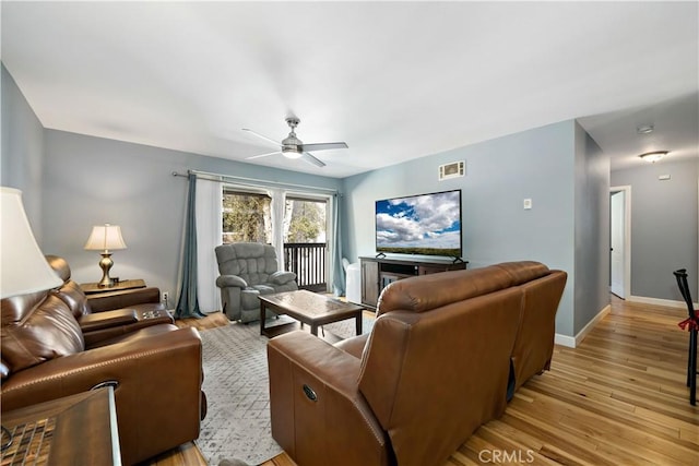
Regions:
[[[376,253],[376,200],[461,189],[469,267],[534,260],[568,272],[556,328],[573,335],[574,138],[576,122],[564,121],[346,178],[345,255]],[[439,165],[457,160],[466,176],[439,181]]]

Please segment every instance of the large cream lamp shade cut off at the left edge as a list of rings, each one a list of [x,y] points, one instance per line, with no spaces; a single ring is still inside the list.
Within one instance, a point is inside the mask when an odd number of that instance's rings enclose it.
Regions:
[[[22,191],[0,188],[0,298],[62,285],[34,239],[22,205]]]

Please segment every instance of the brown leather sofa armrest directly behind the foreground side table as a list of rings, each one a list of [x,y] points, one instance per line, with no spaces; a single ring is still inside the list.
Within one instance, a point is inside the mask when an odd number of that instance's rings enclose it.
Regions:
[[[2,410],[115,381],[122,461],[134,464],[199,437],[203,409],[201,358],[196,328],[167,325],[158,334],[56,358],[13,373],[1,386]]]

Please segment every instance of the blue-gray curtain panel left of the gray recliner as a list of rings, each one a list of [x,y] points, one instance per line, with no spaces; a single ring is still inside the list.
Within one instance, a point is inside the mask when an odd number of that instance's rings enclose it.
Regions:
[[[187,218],[185,220],[185,247],[182,248],[182,266],[179,299],[175,308],[175,318],[203,318],[197,298],[197,175],[189,174],[189,191],[187,193]]]

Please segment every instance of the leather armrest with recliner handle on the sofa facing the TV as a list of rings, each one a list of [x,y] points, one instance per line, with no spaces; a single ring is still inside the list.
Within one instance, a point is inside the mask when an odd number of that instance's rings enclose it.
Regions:
[[[389,464],[388,437],[358,391],[359,359],[297,331],[269,342],[268,361],[272,437],[296,463]]]

